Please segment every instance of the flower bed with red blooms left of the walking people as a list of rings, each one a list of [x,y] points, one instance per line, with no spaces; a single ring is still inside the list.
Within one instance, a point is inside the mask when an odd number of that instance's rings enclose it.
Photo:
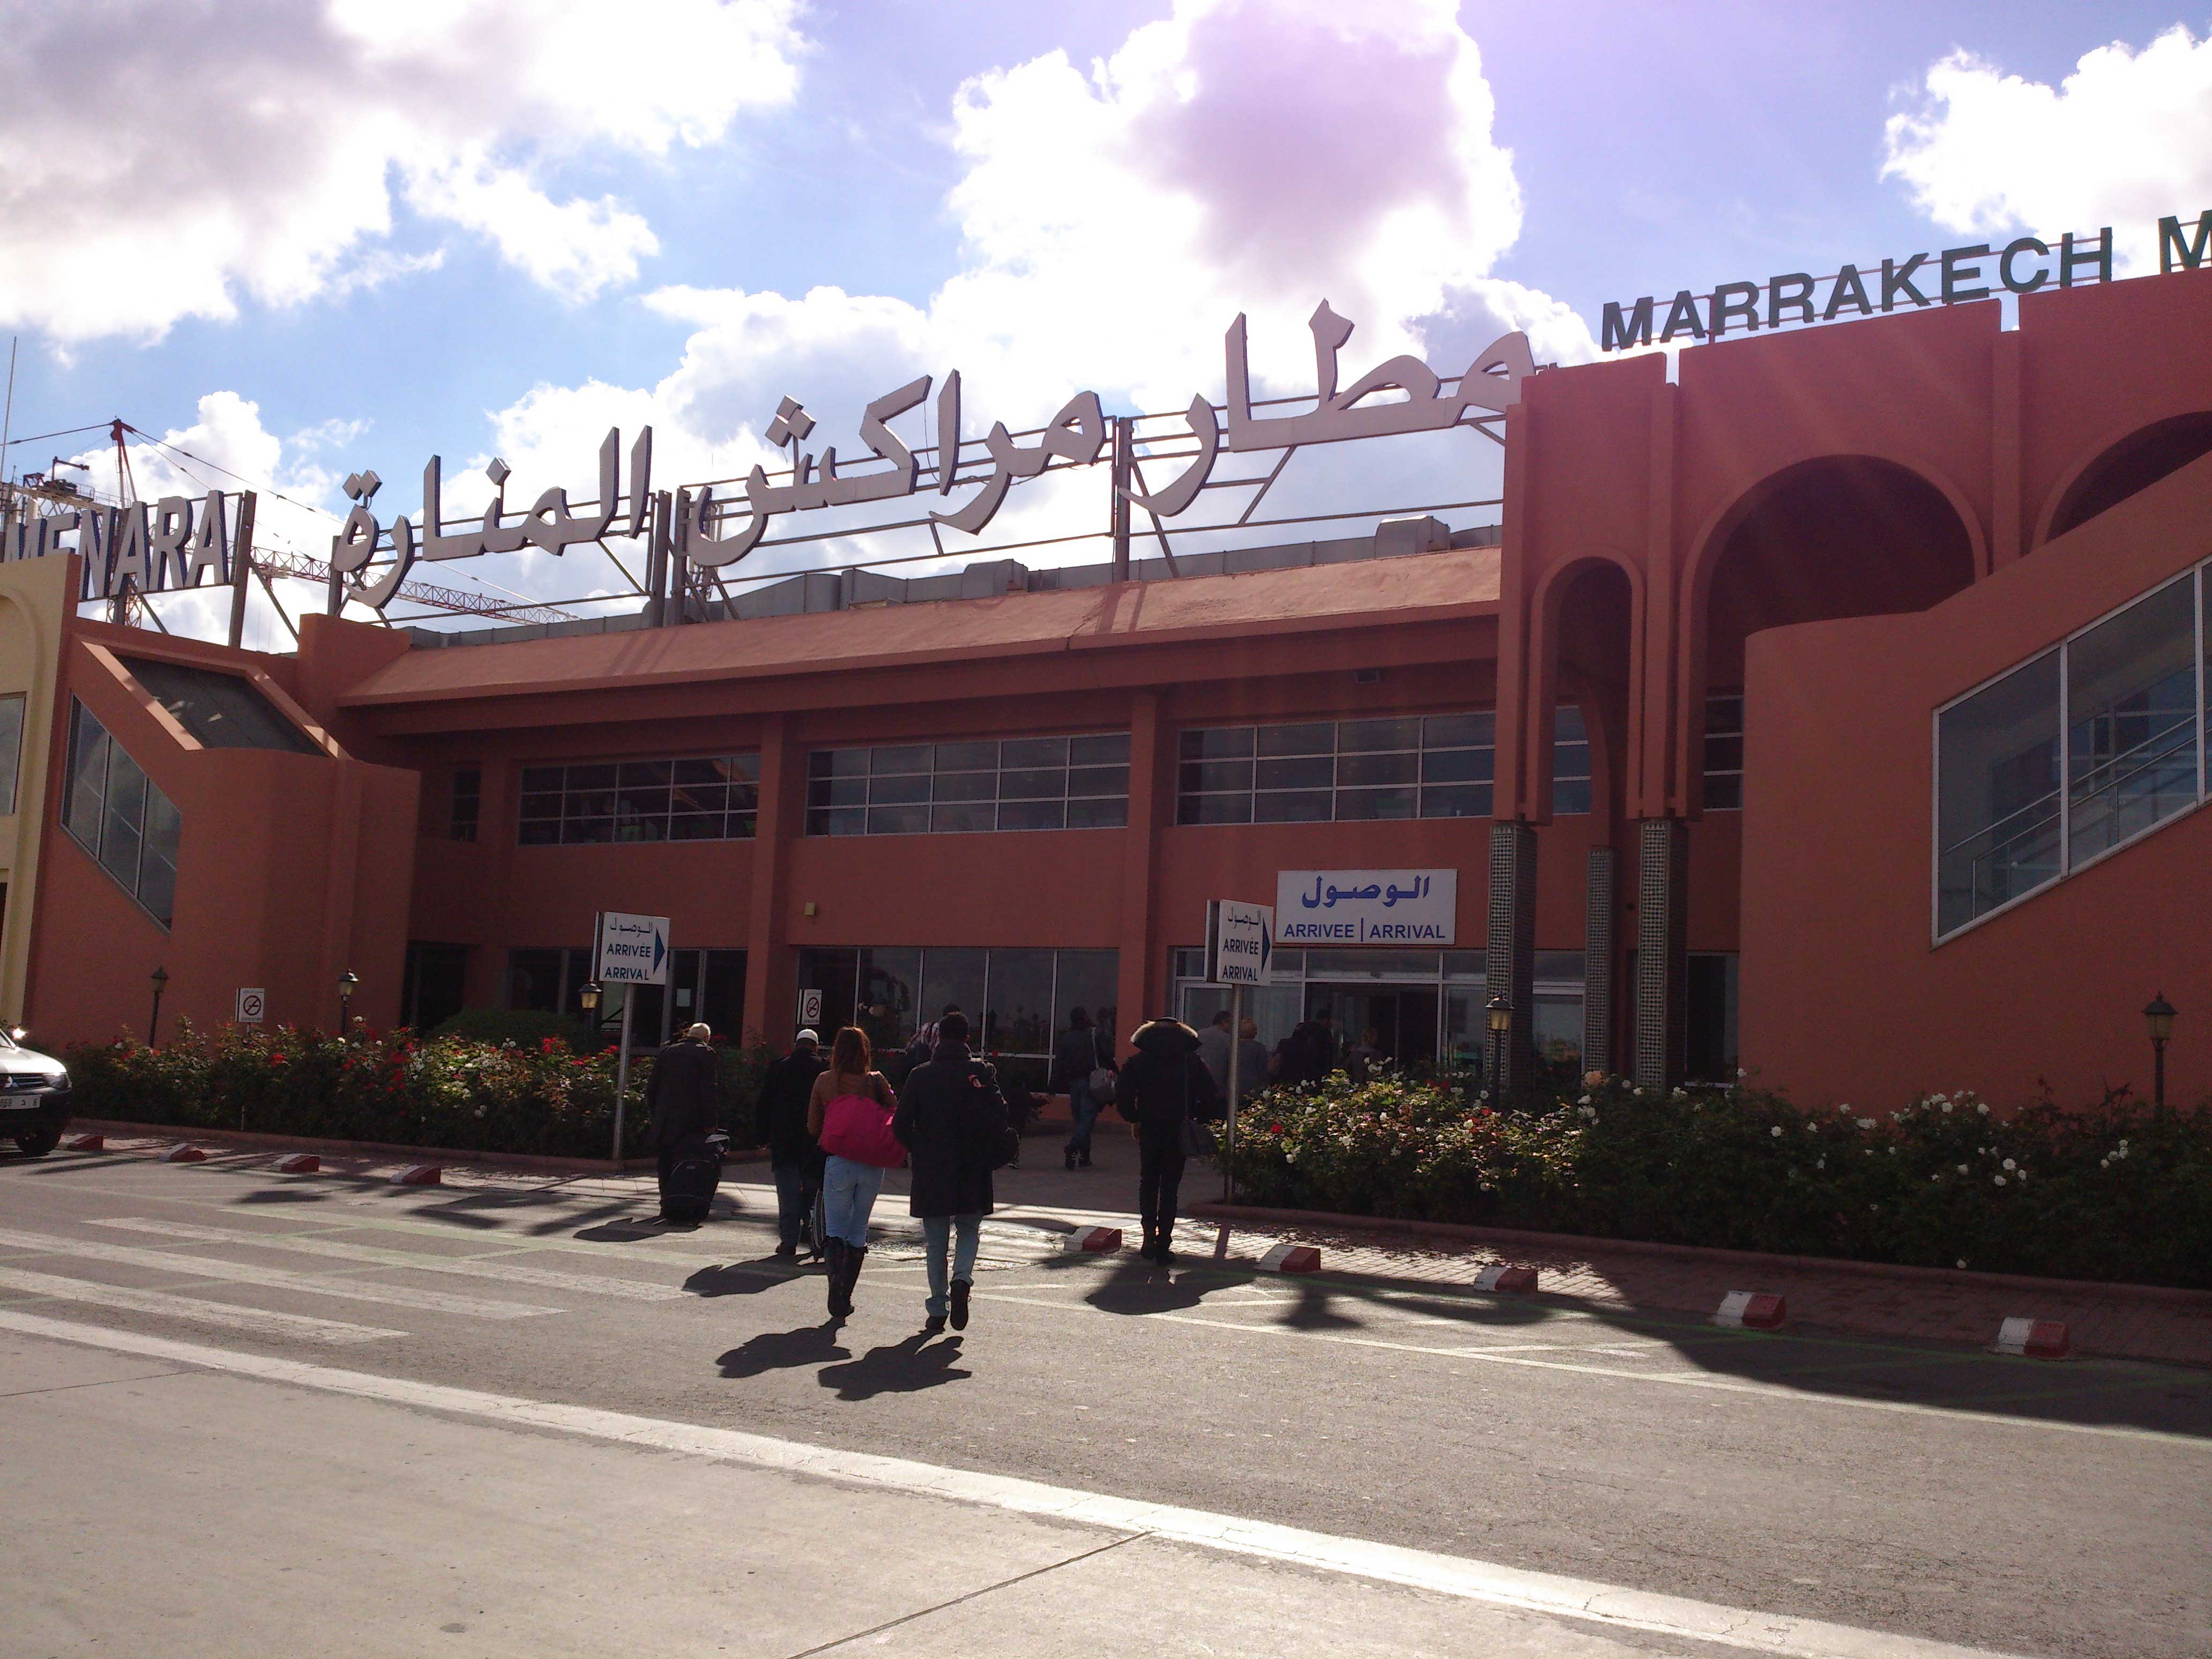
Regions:
[[[743,1146],[763,1055],[721,1055],[723,1124]],[[580,1055],[560,1037],[332,1037],[292,1026],[204,1033],[179,1022],[159,1048],[88,1044],[62,1060],[84,1117],[544,1157],[606,1157],[613,1141],[615,1051]],[[624,1157],[646,1152],[650,1075],[650,1051],[633,1053]]]

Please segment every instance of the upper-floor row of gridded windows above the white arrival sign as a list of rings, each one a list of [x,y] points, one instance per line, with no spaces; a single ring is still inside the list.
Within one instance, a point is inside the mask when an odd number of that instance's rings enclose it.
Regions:
[[[1486,818],[1498,717],[1405,714],[1181,734],[1177,823]],[[1590,739],[1579,708],[1553,723],[1553,812],[1590,810]]]

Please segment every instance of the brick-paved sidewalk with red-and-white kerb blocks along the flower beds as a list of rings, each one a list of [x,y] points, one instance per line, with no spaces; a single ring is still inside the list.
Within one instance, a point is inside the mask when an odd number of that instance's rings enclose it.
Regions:
[[[86,1124],[84,1128],[97,1128]],[[234,1146],[237,1161],[274,1161],[270,1137],[226,1137],[181,1130],[108,1130],[108,1152],[150,1155],[177,1139],[206,1148]],[[53,1155],[55,1161],[69,1157]],[[396,1157],[323,1155],[330,1175],[389,1177]],[[998,1212],[1042,1230],[1117,1225],[1126,1245],[1137,1243],[1137,1157],[1126,1133],[1102,1119],[1095,1168],[1064,1170],[1057,1135],[1031,1135],[1022,1168],[995,1177]],[[726,1203],[743,1219],[770,1223],[774,1188],[761,1164],[732,1166],[723,1177]],[[608,1172],[606,1164],[562,1170],[551,1159],[518,1170],[491,1161],[445,1164],[449,1186],[540,1188],[549,1197],[626,1199],[639,1212],[655,1208],[650,1172]],[[2212,1292],[2079,1281],[2008,1279],[2002,1274],[1889,1267],[1805,1256],[1761,1256],[1734,1250],[1690,1250],[1626,1239],[1573,1239],[1486,1228],[1440,1228],[1365,1217],[1305,1217],[1281,1210],[1225,1208],[1221,1177],[1192,1164],[1183,1177],[1183,1221],[1177,1250],[1192,1263],[1250,1267],[1276,1243],[1321,1250],[1321,1279],[1380,1279],[1413,1285],[1473,1287],[1491,1265],[1535,1267],[1537,1296],[1615,1314],[1708,1316],[1732,1290],[1783,1296],[1792,1325],[1898,1336],[1933,1343],[1989,1345],[2006,1318],[2064,1321],[2075,1352],[2108,1358],[2166,1360],[2212,1367]],[[891,1170],[876,1206],[876,1225],[905,1234],[907,1172]]]

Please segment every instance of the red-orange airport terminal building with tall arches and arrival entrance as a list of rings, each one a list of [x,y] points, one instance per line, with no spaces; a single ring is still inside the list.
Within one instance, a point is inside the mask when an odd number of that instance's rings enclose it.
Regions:
[[[2212,1088],[2212,270],[1548,367],[1504,434],[1489,522],[292,655],[0,562],[0,1020],[575,1006],[619,909],[648,1037],[1042,1055],[1210,1013],[1245,898],[1270,1037],[1473,1062],[1504,995],[1509,1068],[2013,1104],[2148,1088],[2163,991]]]

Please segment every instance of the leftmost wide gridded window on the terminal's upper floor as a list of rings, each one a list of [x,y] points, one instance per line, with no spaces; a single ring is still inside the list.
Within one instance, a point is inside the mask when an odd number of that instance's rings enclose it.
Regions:
[[[863,750],[865,754],[865,750]],[[473,774],[469,834],[476,838],[482,772]],[[524,847],[599,845],[613,841],[752,841],[761,805],[761,757],[717,754],[681,761],[619,761],[591,765],[522,768],[522,810],[515,841]],[[460,823],[460,781],[453,774],[453,812]],[[814,790],[807,783],[812,805]],[[865,794],[867,783],[858,785]]]

